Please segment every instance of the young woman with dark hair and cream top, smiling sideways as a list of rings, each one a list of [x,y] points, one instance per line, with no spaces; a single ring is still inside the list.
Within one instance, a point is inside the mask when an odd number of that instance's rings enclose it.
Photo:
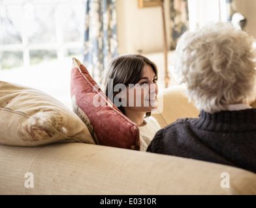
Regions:
[[[151,112],[157,109],[157,67],[142,55],[121,55],[108,64],[105,94],[140,130],[140,150],[146,151],[161,128]]]

